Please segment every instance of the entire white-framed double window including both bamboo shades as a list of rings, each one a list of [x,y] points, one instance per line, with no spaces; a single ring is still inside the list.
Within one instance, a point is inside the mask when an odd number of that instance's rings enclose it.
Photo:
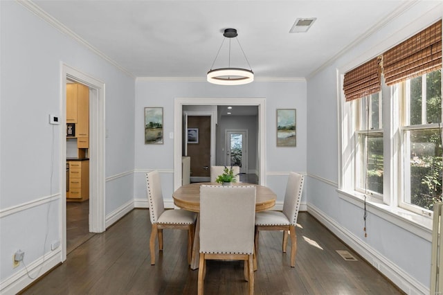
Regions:
[[[343,73],[339,109],[340,196],[424,226],[443,202],[441,28],[440,20],[382,53],[381,71],[372,58]],[[383,73],[375,93],[354,90],[379,78],[374,69]]]

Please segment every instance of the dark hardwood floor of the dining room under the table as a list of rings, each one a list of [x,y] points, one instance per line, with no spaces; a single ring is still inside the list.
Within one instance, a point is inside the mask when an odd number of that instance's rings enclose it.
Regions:
[[[296,267],[281,232],[261,232],[255,294],[404,294],[356,256],[314,217],[298,217]],[[198,271],[186,258],[186,231],[163,231],[163,253],[150,265],[149,211],[131,211],[80,244],[66,262],[22,294],[197,294]],[[158,244],[157,244],[158,247]],[[346,261],[336,250],[357,260]],[[205,294],[247,294],[242,262],[208,261]]]

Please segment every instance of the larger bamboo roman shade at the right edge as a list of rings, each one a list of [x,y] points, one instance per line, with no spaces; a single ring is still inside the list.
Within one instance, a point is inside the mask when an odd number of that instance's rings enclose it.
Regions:
[[[388,85],[441,68],[441,20],[383,53],[383,73]]]

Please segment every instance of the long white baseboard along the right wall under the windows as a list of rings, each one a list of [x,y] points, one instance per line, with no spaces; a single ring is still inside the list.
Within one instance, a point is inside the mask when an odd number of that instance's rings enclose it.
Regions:
[[[361,242],[356,235],[335,222],[335,220],[329,218],[325,213],[323,213],[323,211],[316,208],[316,206],[308,204],[307,211],[312,216],[316,217],[320,223],[326,226],[329,231],[332,231],[334,235],[351,247],[352,250],[359,253],[361,257],[378,269],[383,276],[386,276],[386,278],[390,279],[392,283],[406,292],[406,294],[429,294],[428,287],[424,286],[422,283],[419,283],[415,278],[397,267],[397,265],[392,263],[386,257],[382,256],[380,253],[368,247],[368,244]]]

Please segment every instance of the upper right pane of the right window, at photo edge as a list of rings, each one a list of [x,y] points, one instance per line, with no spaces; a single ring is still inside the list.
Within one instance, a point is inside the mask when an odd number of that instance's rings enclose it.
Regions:
[[[442,120],[442,70],[426,75],[426,121],[441,123]]]

